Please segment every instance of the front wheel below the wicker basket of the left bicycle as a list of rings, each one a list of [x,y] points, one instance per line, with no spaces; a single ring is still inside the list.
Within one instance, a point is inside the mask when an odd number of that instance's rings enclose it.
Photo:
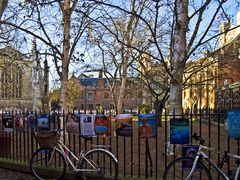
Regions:
[[[30,169],[37,179],[60,179],[66,172],[66,160],[57,149],[41,148],[34,152]]]

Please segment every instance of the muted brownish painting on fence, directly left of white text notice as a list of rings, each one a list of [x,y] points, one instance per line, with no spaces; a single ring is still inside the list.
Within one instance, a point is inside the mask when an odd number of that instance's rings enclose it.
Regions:
[[[79,118],[75,114],[68,114],[66,118],[66,131],[70,134],[79,134]]]

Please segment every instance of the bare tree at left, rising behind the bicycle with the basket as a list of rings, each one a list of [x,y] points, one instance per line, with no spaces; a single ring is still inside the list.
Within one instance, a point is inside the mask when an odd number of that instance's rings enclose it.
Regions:
[[[6,20],[0,21],[1,26],[11,26],[24,32],[26,41],[29,37],[36,38],[38,49],[42,50],[40,54],[52,57],[61,81],[62,109],[66,110],[69,65],[80,62],[80,40],[88,26],[85,14],[91,12],[91,5],[86,6],[77,0],[36,0],[30,3],[11,2],[8,8]],[[76,48],[79,48],[78,51]]]

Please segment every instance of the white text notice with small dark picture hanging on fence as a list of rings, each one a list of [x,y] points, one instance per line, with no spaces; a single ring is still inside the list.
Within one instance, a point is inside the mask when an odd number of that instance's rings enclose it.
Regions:
[[[83,114],[80,120],[81,135],[84,137],[95,136],[94,131],[94,115],[93,114]]]

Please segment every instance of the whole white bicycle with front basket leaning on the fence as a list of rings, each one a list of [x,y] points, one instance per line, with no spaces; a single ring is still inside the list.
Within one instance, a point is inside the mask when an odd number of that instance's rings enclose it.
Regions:
[[[37,179],[62,179],[66,173],[67,162],[72,171],[81,175],[83,179],[87,179],[89,175],[104,178],[107,171],[113,179],[117,179],[118,160],[110,151],[104,149],[106,146],[95,145],[93,149],[86,153],[81,151],[77,156],[60,140],[61,131],[45,133],[51,141],[50,144],[46,143],[47,138],[42,142],[39,140],[41,133],[35,135],[40,149],[33,153],[30,169]]]

